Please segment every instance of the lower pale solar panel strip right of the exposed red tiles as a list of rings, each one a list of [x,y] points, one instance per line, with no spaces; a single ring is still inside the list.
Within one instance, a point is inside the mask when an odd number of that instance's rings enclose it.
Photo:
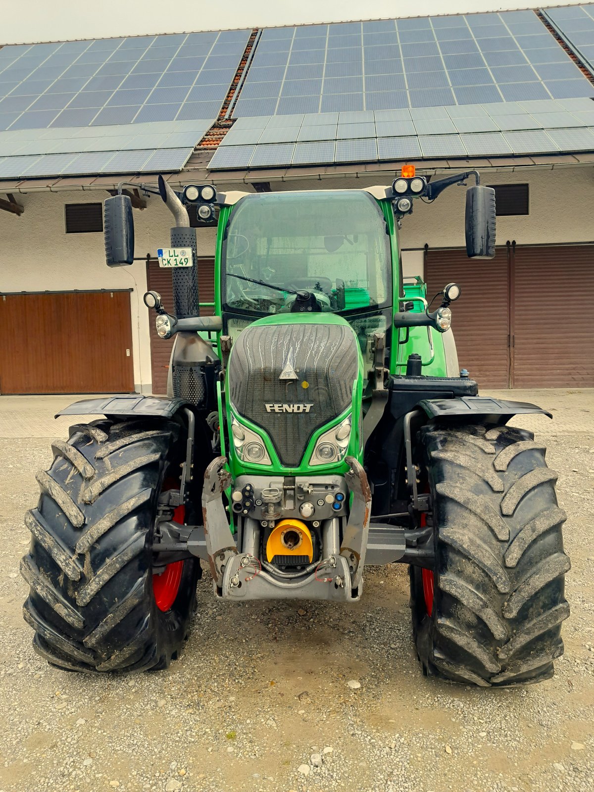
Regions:
[[[495,102],[240,118],[214,170],[594,151],[594,101]]]

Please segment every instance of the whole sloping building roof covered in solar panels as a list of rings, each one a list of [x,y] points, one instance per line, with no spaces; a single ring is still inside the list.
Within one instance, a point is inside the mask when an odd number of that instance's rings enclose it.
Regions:
[[[593,48],[592,6],[10,45],[0,180],[179,172],[197,146],[250,173],[588,154]]]

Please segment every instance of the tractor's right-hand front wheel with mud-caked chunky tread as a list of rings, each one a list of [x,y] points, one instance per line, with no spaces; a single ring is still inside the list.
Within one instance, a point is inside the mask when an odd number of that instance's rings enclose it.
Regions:
[[[544,447],[531,432],[493,425],[426,426],[421,443],[435,527],[432,597],[427,572],[409,573],[425,673],[483,687],[548,679],[563,653],[570,563]]]

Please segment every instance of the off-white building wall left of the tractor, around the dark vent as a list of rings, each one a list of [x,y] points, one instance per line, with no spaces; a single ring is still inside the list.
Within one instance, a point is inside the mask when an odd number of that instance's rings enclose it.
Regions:
[[[150,392],[149,314],[143,303],[147,291],[147,266],[105,265],[103,234],[66,234],[64,205],[101,202],[105,192],[32,192],[20,194],[25,208],[20,216],[0,211],[0,292],[71,291],[73,289],[132,289],[132,356],[136,390]],[[169,245],[172,215],[158,196],[147,198],[147,208],[134,210],[135,256],[156,255]],[[215,229],[198,230],[198,253],[210,256],[215,249]],[[154,318],[150,318],[150,322]]]

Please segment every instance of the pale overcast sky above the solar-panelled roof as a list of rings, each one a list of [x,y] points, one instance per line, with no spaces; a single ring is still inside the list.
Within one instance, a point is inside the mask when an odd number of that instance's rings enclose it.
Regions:
[[[0,0],[0,44],[578,5],[580,0]],[[175,13],[173,13],[175,10]]]

